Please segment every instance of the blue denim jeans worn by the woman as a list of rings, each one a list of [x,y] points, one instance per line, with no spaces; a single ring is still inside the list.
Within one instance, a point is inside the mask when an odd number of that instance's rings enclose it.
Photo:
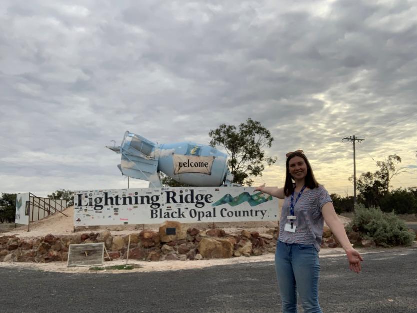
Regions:
[[[275,272],[284,313],[297,313],[297,291],[305,313],[322,313],[319,305],[319,253],[313,244],[278,241]]]

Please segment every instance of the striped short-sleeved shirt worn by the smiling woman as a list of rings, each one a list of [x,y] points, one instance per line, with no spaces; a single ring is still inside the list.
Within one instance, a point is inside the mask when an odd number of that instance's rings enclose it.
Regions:
[[[294,203],[298,192],[294,192]],[[290,215],[291,195],[285,197],[281,210],[280,233],[278,239],[285,243],[314,244],[317,251],[320,251],[322,243],[323,222],[322,207],[327,202],[332,202],[327,190],[319,185],[317,188],[304,190],[294,206],[296,220],[295,232],[285,231],[284,227]]]

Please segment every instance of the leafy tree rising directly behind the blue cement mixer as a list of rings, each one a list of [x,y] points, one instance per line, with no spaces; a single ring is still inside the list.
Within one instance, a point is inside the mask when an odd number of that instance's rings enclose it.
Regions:
[[[265,156],[264,148],[271,147],[271,133],[259,122],[248,118],[246,123],[239,125],[221,124],[217,129],[210,130],[210,145],[223,147],[229,155],[228,166],[234,175],[233,182],[251,186],[253,177],[262,176],[264,163],[271,166],[276,157]]]

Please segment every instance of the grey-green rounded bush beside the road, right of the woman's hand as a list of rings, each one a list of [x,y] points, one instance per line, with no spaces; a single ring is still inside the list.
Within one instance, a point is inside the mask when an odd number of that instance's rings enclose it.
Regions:
[[[411,245],[415,238],[393,212],[384,213],[378,207],[365,208],[362,204],[355,205],[355,216],[348,228],[383,247]]]

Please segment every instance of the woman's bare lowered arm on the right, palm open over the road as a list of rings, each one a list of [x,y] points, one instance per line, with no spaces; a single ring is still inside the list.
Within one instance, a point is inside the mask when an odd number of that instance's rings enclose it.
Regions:
[[[336,236],[336,239],[338,239],[339,243],[342,245],[346,252],[346,256],[348,257],[349,261],[349,269],[359,273],[361,271],[361,262],[364,259],[349,242],[345,228],[336,215],[332,202],[327,202],[323,205],[322,214],[326,224],[330,227],[330,230],[332,230],[332,233]]]

